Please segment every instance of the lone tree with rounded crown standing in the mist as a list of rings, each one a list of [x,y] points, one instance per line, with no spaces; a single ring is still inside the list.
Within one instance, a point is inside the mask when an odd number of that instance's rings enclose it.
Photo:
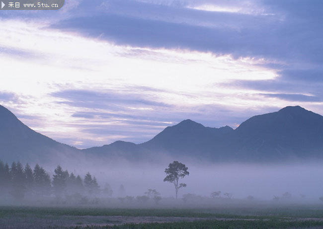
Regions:
[[[178,184],[178,180],[179,178],[184,178],[184,176],[189,174],[187,169],[188,167],[186,167],[185,164],[182,164],[175,160],[174,162],[168,165],[168,168],[165,169],[166,177],[164,178],[164,182],[167,181],[174,184],[176,199],[177,199],[178,189],[182,187],[186,187],[186,184],[184,183]]]

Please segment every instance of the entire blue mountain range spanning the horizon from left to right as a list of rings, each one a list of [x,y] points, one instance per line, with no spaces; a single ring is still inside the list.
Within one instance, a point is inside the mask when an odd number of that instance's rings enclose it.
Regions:
[[[184,120],[142,144],[117,141],[78,150],[41,135],[0,106],[0,159],[44,161],[75,158],[128,160],[193,157],[213,161],[286,161],[323,158],[323,116],[300,106],[257,115],[236,130]],[[59,155],[59,156],[58,156]]]

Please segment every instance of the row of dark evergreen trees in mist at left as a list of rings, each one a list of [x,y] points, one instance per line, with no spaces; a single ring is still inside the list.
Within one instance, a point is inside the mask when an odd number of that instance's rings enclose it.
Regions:
[[[75,193],[97,195],[100,187],[95,176],[88,172],[84,180],[81,176],[63,170],[60,165],[54,170],[51,179],[48,172],[38,164],[32,169],[27,163],[12,162],[11,167],[0,160],[0,196],[11,195],[16,199],[41,198]]]

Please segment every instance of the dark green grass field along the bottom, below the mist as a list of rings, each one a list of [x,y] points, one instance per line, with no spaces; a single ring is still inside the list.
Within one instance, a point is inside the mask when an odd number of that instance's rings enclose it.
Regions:
[[[0,207],[0,229],[323,228],[321,206],[123,209]]]

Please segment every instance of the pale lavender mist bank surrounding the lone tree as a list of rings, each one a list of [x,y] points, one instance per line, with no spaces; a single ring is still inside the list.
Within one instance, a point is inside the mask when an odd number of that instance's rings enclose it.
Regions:
[[[251,195],[260,200],[272,200],[290,192],[293,199],[309,201],[323,196],[323,167],[317,162],[295,162],[292,164],[254,164],[254,163],[208,163],[194,160],[179,160],[188,167],[190,174],[183,178],[186,188],[179,190],[182,194],[192,193],[210,197],[214,191],[232,193],[232,198],[246,198]],[[168,161],[168,163],[172,160]],[[75,166],[77,174],[87,171],[93,173],[99,185],[109,183],[118,197],[118,188],[122,184],[126,195],[144,195],[148,189],[158,190],[163,197],[174,197],[172,184],[163,182],[167,161],[161,163],[141,163],[129,161],[111,161],[104,164]],[[70,164],[73,167],[73,164]],[[66,167],[68,168],[68,167]]]

